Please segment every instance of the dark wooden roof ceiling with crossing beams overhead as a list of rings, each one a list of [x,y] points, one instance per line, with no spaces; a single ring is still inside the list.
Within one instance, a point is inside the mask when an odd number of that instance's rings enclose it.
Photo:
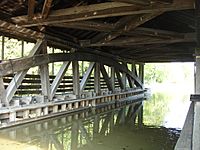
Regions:
[[[138,62],[191,62],[194,0],[2,0],[0,32]]]

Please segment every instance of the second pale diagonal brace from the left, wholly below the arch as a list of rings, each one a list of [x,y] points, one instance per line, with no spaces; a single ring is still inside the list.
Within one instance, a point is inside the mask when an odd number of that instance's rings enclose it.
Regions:
[[[60,67],[59,72],[56,75],[56,78],[54,79],[53,83],[51,84],[51,93],[50,93],[50,100],[53,99],[57,88],[59,87],[59,84],[61,83],[63,77],[65,76],[65,73],[70,65],[70,62],[63,62],[63,65]]]

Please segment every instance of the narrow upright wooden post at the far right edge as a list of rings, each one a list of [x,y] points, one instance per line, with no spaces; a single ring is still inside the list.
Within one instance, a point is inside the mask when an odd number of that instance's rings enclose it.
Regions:
[[[195,93],[200,94],[200,1],[196,0],[196,33],[197,33],[197,48],[196,48],[196,78],[195,78]],[[194,102],[194,126],[192,150],[200,149],[200,102]]]

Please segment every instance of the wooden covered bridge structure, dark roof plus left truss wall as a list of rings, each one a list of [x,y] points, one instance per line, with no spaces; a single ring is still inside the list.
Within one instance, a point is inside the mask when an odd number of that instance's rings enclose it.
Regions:
[[[199,3],[0,1],[0,128],[103,105],[108,109],[138,101],[142,105],[144,63],[149,62],[196,61],[196,93],[200,93]],[[28,56],[4,60],[4,37],[35,44]],[[49,53],[49,47],[61,53]],[[80,61],[87,61],[86,70],[80,71]],[[57,62],[62,65],[51,75],[49,64]],[[66,74],[69,66],[71,76]],[[27,74],[33,67],[39,68],[38,74]],[[192,138],[183,137],[177,147],[193,145],[199,150],[199,102],[192,106],[194,130],[193,126],[184,130],[191,131],[187,133]]]

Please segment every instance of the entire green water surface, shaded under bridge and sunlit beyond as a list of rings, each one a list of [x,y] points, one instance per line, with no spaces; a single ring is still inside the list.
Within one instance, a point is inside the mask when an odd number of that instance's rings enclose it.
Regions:
[[[174,107],[176,103],[180,104],[180,109]],[[98,115],[82,112],[1,130],[0,149],[172,150],[187,105],[187,96],[158,92],[144,102],[143,124],[139,123],[141,118],[138,121],[134,115],[128,117],[133,105],[103,110]],[[182,119],[179,114],[183,115]]]

